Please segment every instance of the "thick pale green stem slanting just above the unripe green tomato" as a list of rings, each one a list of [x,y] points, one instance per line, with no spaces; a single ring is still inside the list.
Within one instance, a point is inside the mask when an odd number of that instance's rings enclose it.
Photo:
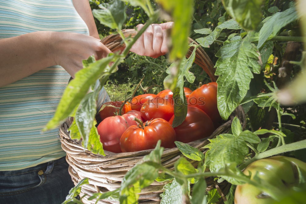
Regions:
[[[241,166],[239,166],[238,169],[243,170],[249,164],[251,164],[253,161],[256,161],[256,160],[259,160],[259,159],[271,157],[271,156],[274,156],[276,154],[281,154],[281,153],[285,153],[285,152],[289,152],[289,151],[305,149],[305,148],[306,148],[306,139],[298,141],[298,142],[294,142],[294,143],[291,143],[291,144],[285,144],[285,145],[282,145],[280,147],[275,147],[273,149],[270,149],[270,150],[267,150],[267,151],[264,151],[264,152],[261,152],[261,153],[257,154],[255,157],[253,157],[252,159],[246,161]]]

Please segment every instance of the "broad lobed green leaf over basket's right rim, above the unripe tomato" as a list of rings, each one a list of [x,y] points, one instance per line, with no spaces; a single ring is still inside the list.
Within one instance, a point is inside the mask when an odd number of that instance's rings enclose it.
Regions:
[[[209,141],[211,143],[205,146],[209,148],[205,154],[205,165],[209,166],[211,172],[218,172],[228,164],[241,164],[249,153],[246,142],[259,143],[260,139],[257,135],[244,131],[238,136],[221,134]]]

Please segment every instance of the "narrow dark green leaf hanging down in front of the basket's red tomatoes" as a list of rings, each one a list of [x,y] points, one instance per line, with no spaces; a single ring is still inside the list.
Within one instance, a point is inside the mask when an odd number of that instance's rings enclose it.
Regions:
[[[181,90],[180,87],[176,87],[172,92],[174,100],[174,120],[172,127],[175,128],[185,121],[187,116],[187,102],[184,88]]]

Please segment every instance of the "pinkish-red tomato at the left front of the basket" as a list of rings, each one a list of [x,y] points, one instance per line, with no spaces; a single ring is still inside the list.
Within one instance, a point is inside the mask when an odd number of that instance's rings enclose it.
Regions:
[[[137,117],[137,116],[136,116]],[[133,119],[135,115],[123,114],[122,116],[111,116],[105,118],[97,127],[103,149],[120,153],[120,138],[122,133],[132,125],[136,125]],[[141,120],[140,117],[137,117]]]

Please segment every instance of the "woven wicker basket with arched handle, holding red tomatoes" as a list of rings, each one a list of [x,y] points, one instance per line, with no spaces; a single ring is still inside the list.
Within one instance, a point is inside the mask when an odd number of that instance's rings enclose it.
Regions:
[[[125,36],[134,36],[134,29],[123,30]],[[110,50],[114,51],[122,47],[121,38],[119,35],[109,35],[101,41]],[[193,42],[189,38],[189,42]],[[187,57],[191,54],[192,50],[189,50]],[[196,50],[195,62],[200,65],[203,70],[210,76],[212,81],[216,81],[215,68],[204,52],[202,48]],[[214,138],[215,136],[226,133],[230,127],[233,117],[237,116],[242,126],[245,126],[245,116],[243,109],[239,106],[231,115],[230,120],[218,127],[215,132],[209,138],[197,140],[189,145],[198,148],[205,153],[204,146],[209,143],[207,139]],[[93,154],[80,145],[78,141],[69,138],[69,132],[67,129],[71,125],[72,119],[69,118],[60,127],[60,137],[62,142],[62,148],[67,153],[66,160],[69,163],[69,173],[72,177],[74,184],[77,184],[80,180],[88,177],[89,184],[82,186],[80,196],[87,194],[83,198],[84,203],[95,203],[95,200],[87,200],[93,193],[113,191],[120,187],[121,181],[125,176],[125,173],[132,169],[132,167],[140,161],[144,155],[149,154],[151,150],[144,150],[138,152],[128,152],[128,153],[112,153],[105,151],[106,156],[101,156],[98,154]],[[174,163],[182,156],[181,152],[177,148],[165,149],[162,154],[162,165],[166,168],[173,170]],[[196,161],[190,161],[196,165]],[[212,178],[207,178],[207,189],[217,187],[219,191],[222,191],[225,195],[229,190],[230,185],[227,182],[222,182],[221,184],[216,184]],[[159,203],[161,197],[159,196],[163,190],[163,186],[167,184],[166,182],[154,182],[149,187],[144,188],[140,193],[139,202],[140,203]],[[224,198],[224,197],[223,197]],[[220,198],[220,203],[223,199]],[[107,200],[100,200],[98,203],[114,203]]]

